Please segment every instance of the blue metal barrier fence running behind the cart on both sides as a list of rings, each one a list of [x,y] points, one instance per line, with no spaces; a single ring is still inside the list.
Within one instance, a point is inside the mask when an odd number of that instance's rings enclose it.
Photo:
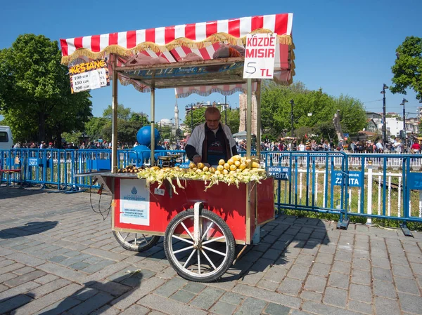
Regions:
[[[245,152],[241,152],[244,154]],[[120,168],[148,165],[150,152],[118,150]],[[155,152],[187,161],[184,151]],[[255,152],[253,152],[255,154]],[[75,174],[109,170],[110,149],[11,149],[0,151],[6,185],[49,185],[58,190],[87,189],[91,177]],[[275,178],[275,208],[333,213],[347,227],[350,215],[422,222],[421,154],[344,152],[261,152],[261,165]]]

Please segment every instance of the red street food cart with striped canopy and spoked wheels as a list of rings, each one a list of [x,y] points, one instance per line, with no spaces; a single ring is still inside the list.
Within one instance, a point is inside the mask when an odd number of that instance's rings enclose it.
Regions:
[[[112,194],[113,234],[124,248],[148,250],[164,236],[165,254],[180,276],[214,281],[234,262],[235,245],[251,244],[254,234],[259,236],[260,225],[274,219],[274,180],[264,177],[236,185],[220,182],[209,189],[203,180],[182,180],[181,189],[179,179],[159,183],[119,173],[117,79],[122,85],[132,84],[140,92],[151,93],[151,130],[156,89],[174,88],[179,98],[191,93],[245,92],[246,158],[250,159],[252,94],[257,98],[254,111],[260,139],[259,78],[267,75],[289,84],[294,75],[292,22],[293,15],[288,13],[60,40],[72,91],[99,88],[110,81],[113,86],[111,171],[95,176]],[[274,39],[272,55],[248,51],[254,44],[259,48],[262,34]],[[272,58],[270,74],[262,69],[262,57]],[[253,69],[261,76],[245,76]],[[158,165],[154,149],[155,133],[151,132],[151,166]],[[258,158],[259,150],[257,146]]]

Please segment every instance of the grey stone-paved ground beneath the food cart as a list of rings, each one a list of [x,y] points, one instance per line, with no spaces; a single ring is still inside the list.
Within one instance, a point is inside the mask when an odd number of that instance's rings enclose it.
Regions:
[[[422,234],[335,226],[281,216],[220,281],[193,283],[162,242],[120,247],[87,193],[0,187],[0,313],[422,314]]]

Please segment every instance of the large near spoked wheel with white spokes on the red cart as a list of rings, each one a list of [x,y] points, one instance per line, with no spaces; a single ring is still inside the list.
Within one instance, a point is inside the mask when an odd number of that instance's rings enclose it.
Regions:
[[[176,215],[164,236],[167,260],[190,281],[219,279],[233,263],[235,245],[226,222],[197,205]]]

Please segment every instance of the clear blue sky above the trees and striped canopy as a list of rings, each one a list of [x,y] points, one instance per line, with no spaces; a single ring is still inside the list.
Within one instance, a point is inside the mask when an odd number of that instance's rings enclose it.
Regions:
[[[422,37],[422,1],[321,0],[321,1],[5,1],[0,11],[0,49],[11,46],[20,34],[44,34],[51,40],[134,29],[164,27],[250,15],[293,13],[296,75],[309,89],[322,88],[338,96],[350,95],[365,102],[366,109],[381,112],[383,83],[391,84],[395,49],[406,36]],[[91,91],[94,116],[102,116],[111,104],[111,87]],[[385,94],[387,112],[407,112],[421,104],[415,93]],[[224,101],[214,93],[207,98],[191,95],[179,99],[184,105],[196,101]],[[238,94],[227,97],[238,106]],[[156,93],[156,120],[170,119],[174,90]],[[150,112],[150,95],[119,86],[119,103],[134,112]],[[288,105],[286,105],[288,106]],[[411,115],[414,116],[414,115]]]

